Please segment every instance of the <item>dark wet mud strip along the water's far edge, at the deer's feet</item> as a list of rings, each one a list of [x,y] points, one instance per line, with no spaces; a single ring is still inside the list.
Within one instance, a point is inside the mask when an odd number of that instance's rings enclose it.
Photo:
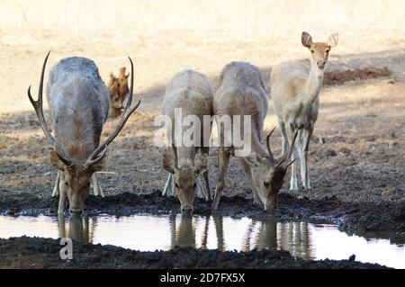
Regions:
[[[30,209],[26,209],[30,206]],[[211,214],[211,202],[196,199],[194,214]],[[0,213],[6,215],[56,215],[58,200],[19,193],[0,199]],[[105,198],[90,195],[86,201],[87,215],[131,215],[135,213],[162,214],[180,212],[179,203],[173,197],[163,197],[159,192],[150,194],[121,193]],[[288,193],[279,196],[278,211],[264,211],[252,200],[235,196],[223,197],[216,211],[219,215],[234,218],[248,217],[253,220],[315,220],[326,219],[338,223],[340,230],[353,234],[377,231],[405,232],[405,205],[400,203],[348,203],[334,196],[320,200],[297,198]]]

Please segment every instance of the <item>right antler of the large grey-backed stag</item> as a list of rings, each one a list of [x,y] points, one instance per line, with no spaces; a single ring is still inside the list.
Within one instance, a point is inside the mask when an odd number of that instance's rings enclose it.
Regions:
[[[88,157],[88,159],[85,162],[86,167],[93,166],[103,158],[103,156],[107,151],[107,146],[112,142],[113,139],[115,139],[118,136],[123,126],[125,125],[125,122],[127,122],[128,119],[130,118],[132,112],[135,112],[135,110],[139,107],[140,100],[135,106],[130,107],[133,95],[133,63],[132,59],[130,57],[128,58],[130,59],[130,96],[128,98],[127,105],[125,106],[125,111],[122,113],[121,120],[118,123],[117,128],[115,128],[115,130],[110,135],[110,137],[108,137],[108,139],[105,139],[105,141],[94,150],[94,152],[90,155],[90,157]],[[101,152],[103,153],[99,156]]]

